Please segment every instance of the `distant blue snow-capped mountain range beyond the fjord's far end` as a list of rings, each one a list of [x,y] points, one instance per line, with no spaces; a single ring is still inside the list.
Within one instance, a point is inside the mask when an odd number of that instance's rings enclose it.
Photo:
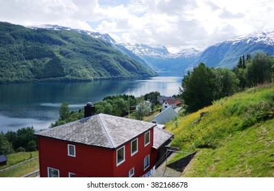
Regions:
[[[242,55],[251,54],[252,57],[255,53],[259,52],[274,55],[274,29],[240,35],[236,38],[209,46],[203,52],[195,50],[195,48],[188,48],[173,54],[165,46],[158,44],[115,42],[106,33],[71,29],[58,25],[39,25],[30,26],[29,28],[77,31],[100,38],[101,40],[110,42],[116,49],[121,50],[129,57],[140,61],[155,71],[187,72],[200,62],[206,63],[207,66],[232,69],[236,66],[239,57]]]

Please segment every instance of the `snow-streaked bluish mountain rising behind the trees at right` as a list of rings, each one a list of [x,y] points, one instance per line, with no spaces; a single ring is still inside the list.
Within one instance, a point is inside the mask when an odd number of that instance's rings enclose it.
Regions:
[[[274,55],[274,31],[258,31],[225,40],[209,46],[197,58],[196,63],[204,62],[207,66],[234,68],[242,55],[268,53]]]

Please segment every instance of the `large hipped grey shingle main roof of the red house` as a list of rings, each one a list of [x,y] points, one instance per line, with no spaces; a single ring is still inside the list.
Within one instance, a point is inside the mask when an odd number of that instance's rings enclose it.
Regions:
[[[154,123],[145,121],[99,114],[63,126],[36,132],[36,135],[113,149],[127,143],[127,141],[154,126]]]

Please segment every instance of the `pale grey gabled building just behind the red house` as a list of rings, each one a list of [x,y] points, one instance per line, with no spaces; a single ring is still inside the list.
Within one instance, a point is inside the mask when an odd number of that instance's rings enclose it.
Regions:
[[[171,106],[169,106],[161,113],[158,113],[158,115],[155,115],[150,122],[164,125],[165,123],[172,121],[174,117],[179,117],[179,115]]]

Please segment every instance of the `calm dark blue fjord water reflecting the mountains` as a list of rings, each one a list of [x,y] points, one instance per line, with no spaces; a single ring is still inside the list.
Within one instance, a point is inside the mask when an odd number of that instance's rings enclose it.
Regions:
[[[173,75],[173,76],[171,76]],[[34,126],[48,128],[59,117],[62,102],[71,110],[86,102],[98,102],[108,95],[145,95],[159,91],[162,95],[178,93],[182,75],[161,73],[147,80],[103,80],[90,83],[28,83],[0,85],[0,132]]]

